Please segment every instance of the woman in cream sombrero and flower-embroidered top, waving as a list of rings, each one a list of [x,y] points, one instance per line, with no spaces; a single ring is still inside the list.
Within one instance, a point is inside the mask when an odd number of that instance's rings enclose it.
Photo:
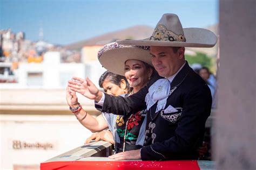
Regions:
[[[153,73],[151,56],[147,47],[124,46],[114,42],[100,49],[98,59],[110,72],[126,77],[132,91],[124,97],[137,93],[146,86]],[[85,80],[73,77],[73,80],[69,81],[66,93],[70,109],[79,122],[92,132],[109,128],[113,134],[116,153],[141,148],[145,138],[145,111],[139,111],[130,116],[102,113],[94,118],[87,114],[76,97],[75,91],[83,95],[86,86],[90,85]]]

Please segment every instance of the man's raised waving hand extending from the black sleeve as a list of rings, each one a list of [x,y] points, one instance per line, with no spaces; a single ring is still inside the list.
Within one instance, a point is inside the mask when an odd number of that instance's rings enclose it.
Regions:
[[[68,86],[71,90],[97,102],[102,98],[102,92],[98,90],[89,78],[84,80],[79,77],[73,77],[72,80],[69,81]]]

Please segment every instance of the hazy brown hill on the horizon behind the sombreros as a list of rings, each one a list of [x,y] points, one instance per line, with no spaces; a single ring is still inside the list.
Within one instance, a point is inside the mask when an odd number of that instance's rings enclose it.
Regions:
[[[218,35],[218,24],[208,26],[205,29],[211,30],[216,35]],[[101,36],[93,37],[87,40],[78,41],[73,44],[66,45],[67,49],[71,50],[80,50],[84,46],[92,46],[92,45],[105,45],[107,43],[116,41],[116,40],[124,40],[124,39],[145,39],[152,36],[154,28],[146,25],[138,25],[132,26],[124,30],[114,31],[111,33],[106,33]],[[217,42],[218,43],[218,42]],[[203,52],[210,56],[217,55],[218,44],[213,48],[186,48],[188,51],[194,52]]]

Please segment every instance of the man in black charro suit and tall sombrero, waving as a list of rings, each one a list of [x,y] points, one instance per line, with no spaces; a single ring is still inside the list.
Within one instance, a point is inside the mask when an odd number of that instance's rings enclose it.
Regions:
[[[110,158],[198,158],[197,149],[203,142],[212,97],[205,81],[188,66],[184,53],[185,47],[213,47],[216,41],[211,31],[183,29],[177,15],[164,14],[149,39],[118,41],[124,45],[150,46],[152,65],[160,76],[152,77],[138,93],[130,97],[114,97],[100,92],[89,79],[74,77],[75,81],[69,81],[72,90],[95,100],[103,112],[129,115],[147,109],[144,146]]]

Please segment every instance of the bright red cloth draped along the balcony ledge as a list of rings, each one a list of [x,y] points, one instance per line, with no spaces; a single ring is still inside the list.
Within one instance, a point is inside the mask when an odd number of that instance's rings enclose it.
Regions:
[[[200,170],[196,160],[179,161],[59,161],[46,162],[40,166],[41,170],[48,169],[86,169],[86,170]]]

